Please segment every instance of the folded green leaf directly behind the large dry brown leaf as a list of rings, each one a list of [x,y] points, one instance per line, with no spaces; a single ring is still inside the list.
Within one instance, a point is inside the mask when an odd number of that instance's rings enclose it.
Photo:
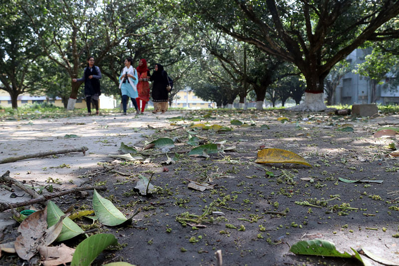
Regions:
[[[48,227],[51,227],[55,225],[59,218],[63,216],[64,213],[61,211],[60,208],[58,208],[55,203],[52,201],[48,201],[47,203],[47,225]],[[65,218],[62,222],[62,230],[61,233],[58,235],[58,238],[56,241],[64,241],[68,240],[71,238],[74,238],[80,234],[83,234],[84,231],[77,225],[75,224],[71,219],[68,217]]]

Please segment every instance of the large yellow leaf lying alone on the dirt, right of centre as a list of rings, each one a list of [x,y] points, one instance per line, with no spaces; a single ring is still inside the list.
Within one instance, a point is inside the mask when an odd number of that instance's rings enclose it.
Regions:
[[[258,151],[258,158],[255,163],[273,164],[273,163],[292,163],[303,164],[312,167],[302,156],[296,153],[282,149],[262,149]]]

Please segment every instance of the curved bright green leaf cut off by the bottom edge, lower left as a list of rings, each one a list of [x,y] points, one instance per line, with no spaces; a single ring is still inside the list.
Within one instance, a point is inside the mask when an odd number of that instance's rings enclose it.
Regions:
[[[73,254],[71,266],[89,266],[97,256],[118,241],[112,234],[97,234],[83,240]]]

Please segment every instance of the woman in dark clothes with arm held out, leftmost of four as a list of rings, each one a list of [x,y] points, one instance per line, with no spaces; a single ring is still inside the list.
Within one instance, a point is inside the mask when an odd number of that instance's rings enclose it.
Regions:
[[[94,57],[87,59],[87,66],[84,68],[83,77],[73,78],[73,82],[84,81],[84,95],[86,97],[87,114],[91,115],[91,103],[96,107],[96,115],[99,115],[98,100],[101,95],[100,90],[101,71],[94,65]]]

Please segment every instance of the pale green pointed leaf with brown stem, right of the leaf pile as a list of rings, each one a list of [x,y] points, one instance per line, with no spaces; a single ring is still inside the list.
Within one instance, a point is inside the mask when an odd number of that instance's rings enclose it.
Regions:
[[[128,219],[107,199],[104,199],[96,190],[93,194],[93,209],[98,221],[106,226],[117,226]]]

